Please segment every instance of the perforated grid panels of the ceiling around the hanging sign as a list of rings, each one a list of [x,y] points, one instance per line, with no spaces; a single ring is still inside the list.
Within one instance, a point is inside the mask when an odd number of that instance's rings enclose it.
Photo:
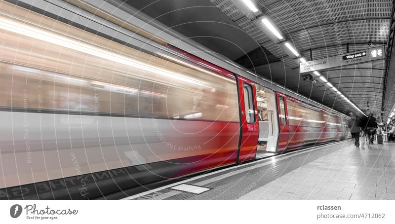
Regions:
[[[238,18],[237,25],[263,47],[299,74],[297,60],[286,55],[276,43],[247,18],[235,14],[229,0],[211,0],[230,18]],[[356,50],[385,45],[390,31],[391,0],[258,0],[262,12],[290,40],[307,59],[331,57]],[[347,46],[347,43],[348,46]],[[322,71],[340,91],[345,91],[356,103],[360,94],[369,99],[381,100],[385,62],[373,61],[349,67]],[[343,78],[342,78],[343,77]],[[366,92],[366,80],[371,89]],[[355,82],[355,83],[353,83]],[[373,83],[374,82],[374,83]],[[326,89],[322,83],[318,88]],[[365,89],[365,91],[364,91]],[[332,91],[327,94],[334,95]],[[380,95],[380,96],[378,96]],[[381,102],[377,103],[377,106]],[[339,107],[342,107],[339,105]],[[372,102],[371,107],[376,107]]]

